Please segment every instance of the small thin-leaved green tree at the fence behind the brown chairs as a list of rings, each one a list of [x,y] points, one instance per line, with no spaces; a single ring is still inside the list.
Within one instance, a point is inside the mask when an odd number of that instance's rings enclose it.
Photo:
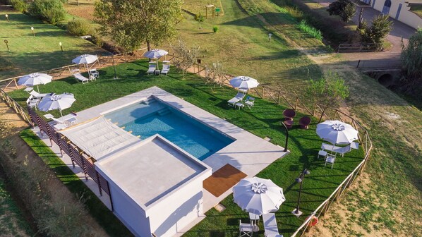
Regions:
[[[320,80],[311,80],[306,88],[306,95],[312,102],[322,107],[322,116],[329,107],[338,108],[349,97],[349,87],[337,73],[329,71]]]

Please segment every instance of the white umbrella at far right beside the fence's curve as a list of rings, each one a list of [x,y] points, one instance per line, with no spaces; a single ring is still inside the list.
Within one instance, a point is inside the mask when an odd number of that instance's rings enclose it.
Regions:
[[[317,125],[316,133],[332,144],[350,144],[358,139],[358,131],[350,124],[338,120],[327,120]]]

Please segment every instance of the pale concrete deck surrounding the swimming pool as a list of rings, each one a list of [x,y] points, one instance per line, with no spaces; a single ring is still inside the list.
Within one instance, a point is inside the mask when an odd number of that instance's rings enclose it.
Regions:
[[[94,119],[98,116],[102,116],[103,114],[107,114],[111,111],[116,109],[120,109],[122,107],[126,107],[130,104],[134,104],[137,102],[141,102],[148,97],[156,97],[157,99],[162,100],[162,102],[167,103],[169,106],[174,107],[175,109],[179,109],[184,113],[192,116],[194,119],[205,123],[207,126],[215,128],[229,137],[234,138],[235,141],[231,144],[224,147],[222,150],[219,150],[215,154],[212,154],[210,157],[207,157],[203,160],[205,164],[212,168],[212,172],[217,171],[222,166],[226,164],[231,164],[231,166],[236,167],[243,173],[245,173],[248,177],[253,177],[258,174],[260,171],[265,169],[267,166],[275,162],[275,160],[284,157],[289,152],[283,152],[284,148],[278,145],[274,145],[263,138],[259,138],[252,133],[249,133],[242,128],[234,126],[233,124],[225,121],[224,119],[220,119],[219,117],[210,114],[209,112],[196,107],[195,105],[184,101],[183,99],[171,95],[169,92],[166,92],[159,87],[150,87],[146,90],[142,90],[140,92],[135,92],[131,95],[127,95],[125,97],[121,97],[119,99],[114,99],[110,102],[106,102],[104,104],[100,104],[96,107],[92,107],[90,109],[85,109],[84,111],[78,112],[78,123],[83,123],[84,121],[88,121],[90,119]],[[77,99],[77,98],[76,98]],[[227,107],[227,109],[233,109],[231,107]],[[44,142],[49,145],[48,138],[44,136]],[[54,149],[54,147],[56,147]],[[59,153],[58,147],[54,145],[53,147],[54,152]],[[64,157],[64,162],[71,166],[71,160],[66,160],[66,155]],[[79,167],[78,167],[79,169]],[[78,171],[75,169],[74,171]],[[171,172],[169,169],[168,172]],[[78,174],[81,178],[83,178],[83,173]],[[92,181],[95,184],[95,182]],[[87,184],[88,185],[88,184]],[[89,185],[88,185],[89,186]],[[90,188],[97,194],[97,186],[96,184],[90,186]],[[225,193],[220,195],[219,197],[215,197],[207,190],[203,189],[203,210],[206,212],[207,210],[215,207],[221,200],[232,193],[231,188],[227,190]],[[103,195],[100,197],[104,204],[107,204],[107,195]],[[197,224],[203,217],[197,219],[197,221],[193,222],[191,225],[187,226],[184,229],[181,229],[179,232],[183,234],[184,231],[191,229],[192,226]]]

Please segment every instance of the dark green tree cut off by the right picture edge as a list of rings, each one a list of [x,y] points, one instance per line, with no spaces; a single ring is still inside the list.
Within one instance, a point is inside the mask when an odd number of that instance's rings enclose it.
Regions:
[[[409,86],[422,82],[422,29],[409,39],[402,47],[402,63],[405,76],[403,82]]]

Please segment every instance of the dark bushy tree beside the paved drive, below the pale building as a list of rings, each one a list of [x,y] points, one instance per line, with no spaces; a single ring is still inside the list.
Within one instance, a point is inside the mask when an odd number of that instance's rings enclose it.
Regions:
[[[372,20],[372,25],[364,22],[361,26],[361,38],[363,43],[375,44],[376,49],[382,49],[385,37],[392,29],[392,21],[388,15],[380,15]]]

